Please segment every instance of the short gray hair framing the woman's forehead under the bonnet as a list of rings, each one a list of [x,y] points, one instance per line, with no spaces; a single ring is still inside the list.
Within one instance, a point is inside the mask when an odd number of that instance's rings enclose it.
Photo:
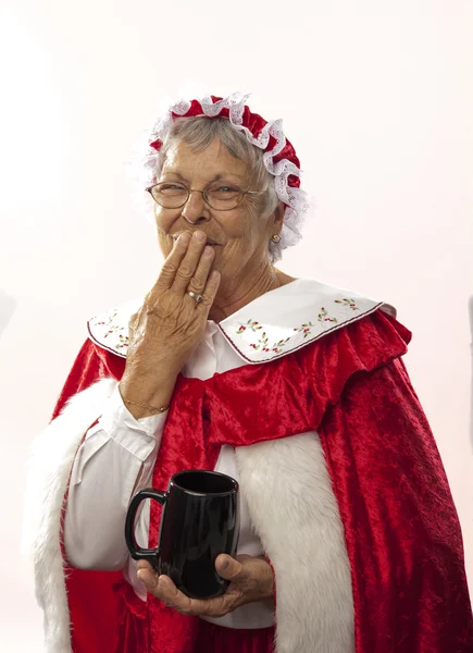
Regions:
[[[274,185],[274,176],[267,172],[263,155],[264,151],[251,145],[246,136],[235,130],[225,118],[176,118],[166,134],[164,143],[159,150],[157,167],[154,169],[158,178],[164,165],[169,148],[176,140],[186,143],[191,149],[201,151],[208,147],[214,138],[217,138],[228,150],[232,157],[244,161],[251,178],[251,189],[259,195],[247,196],[250,201],[250,210],[262,220],[269,218],[277,208],[279,198]],[[271,262],[281,258],[278,244],[270,241],[269,257]]]

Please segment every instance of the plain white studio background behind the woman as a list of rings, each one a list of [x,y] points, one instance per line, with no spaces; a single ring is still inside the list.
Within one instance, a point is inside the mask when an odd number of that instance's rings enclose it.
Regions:
[[[161,258],[123,162],[183,83],[283,118],[316,197],[282,269],[397,306],[473,579],[468,298],[473,293],[473,4],[462,0],[3,0],[0,9],[0,649],[40,651],[21,557],[25,451],[85,320]]]

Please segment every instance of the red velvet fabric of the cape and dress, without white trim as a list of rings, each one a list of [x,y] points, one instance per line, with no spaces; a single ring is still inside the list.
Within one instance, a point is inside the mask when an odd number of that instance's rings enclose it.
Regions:
[[[207,381],[181,377],[153,486],[181,469],[213,469],[222,444],[318,430],[351,566],[357,653],[473,653],[460,525],[400,359],[409,341],[376,311],[277,360]],[[87,342],[54,415],[94,381],[120,379],[124,364]],[[197,618],[141,602],[120,574],[71,569],[67,590],[74,653],[194,652]]]

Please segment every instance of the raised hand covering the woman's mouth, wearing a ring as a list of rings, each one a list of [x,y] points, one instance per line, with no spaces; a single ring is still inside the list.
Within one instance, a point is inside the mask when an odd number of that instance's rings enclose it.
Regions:
[[[160,408],[167,406],[177,374],[201,340],[220,284],[211,273],[214,251],[207,236],[183,234],[166,258],[154,287],[129,321],[122,397]],[[198,304],[187,291],[201,295]],[[130,406],[128,404],[128,406]],[[149,415],[130,406],[135,417]]]

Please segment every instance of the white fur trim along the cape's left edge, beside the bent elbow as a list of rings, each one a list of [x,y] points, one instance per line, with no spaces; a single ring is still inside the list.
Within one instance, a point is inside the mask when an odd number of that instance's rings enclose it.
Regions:
[[[71,653],[71,623],[61,554],[61,509],[77,447],[116,386],[98,381],[73,396],[33,442],[27,461],[23,550],[33,557],[36,600],[43,611],[43,653]]]

